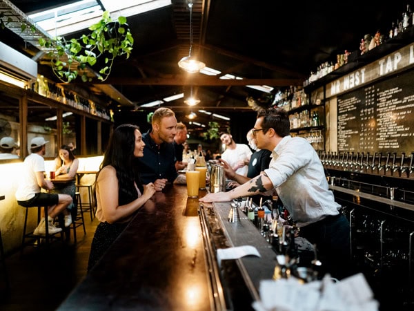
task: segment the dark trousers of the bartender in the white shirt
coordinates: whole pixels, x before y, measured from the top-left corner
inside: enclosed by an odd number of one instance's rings
[[[353,274],[351,267],[351,238],[348,219],[342,214],[328,216],[300,228],[300,236],[316,244],[321,276],[325,273],[344,279]]]

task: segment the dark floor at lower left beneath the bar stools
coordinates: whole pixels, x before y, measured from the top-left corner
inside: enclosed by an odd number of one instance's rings
[[[56,310],[66,296],[86,275],[90,243],[98,220],[90,221],[84,214],[86,235],[77,228],[77,243],[73,236],[66,244],[54,242],[50,249],[27,246],[6,256],[10,290],[5,289],[3,268],[0,267],[0,310]],[[71,234],[73,234],[71,230]]]

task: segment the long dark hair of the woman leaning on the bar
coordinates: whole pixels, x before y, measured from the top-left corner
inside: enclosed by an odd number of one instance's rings
[[[117,171],[119,185],[119,205],[124,205],[138,196],[134,181],[141,193],[144,188],[139,182],[139,173],[134,164],[135,131],[139,127],[134,124],[121,124],[110,135],[108,147],[103,156],[99,171],[108,165],[112,165]],[[99,175],[99,173],[98,173]]]

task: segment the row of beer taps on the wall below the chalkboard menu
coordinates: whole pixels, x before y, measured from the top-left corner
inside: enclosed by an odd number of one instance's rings
[[[375,173],[379,175],[389,175],[395,177],[413,178],[414,171],[414,151],[410,156],[401,153],[397,156],[396,152],[333,152],[319,151],[319,158],[324,167],[328,169],[342,169],[344,171],[354,171],[359,173]]]

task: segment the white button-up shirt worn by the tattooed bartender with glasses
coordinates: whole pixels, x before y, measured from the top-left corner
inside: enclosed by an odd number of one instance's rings
[[[339,213],[324,167],[307,140],[285,136],[271,157],[265,172],[298,227]]]

